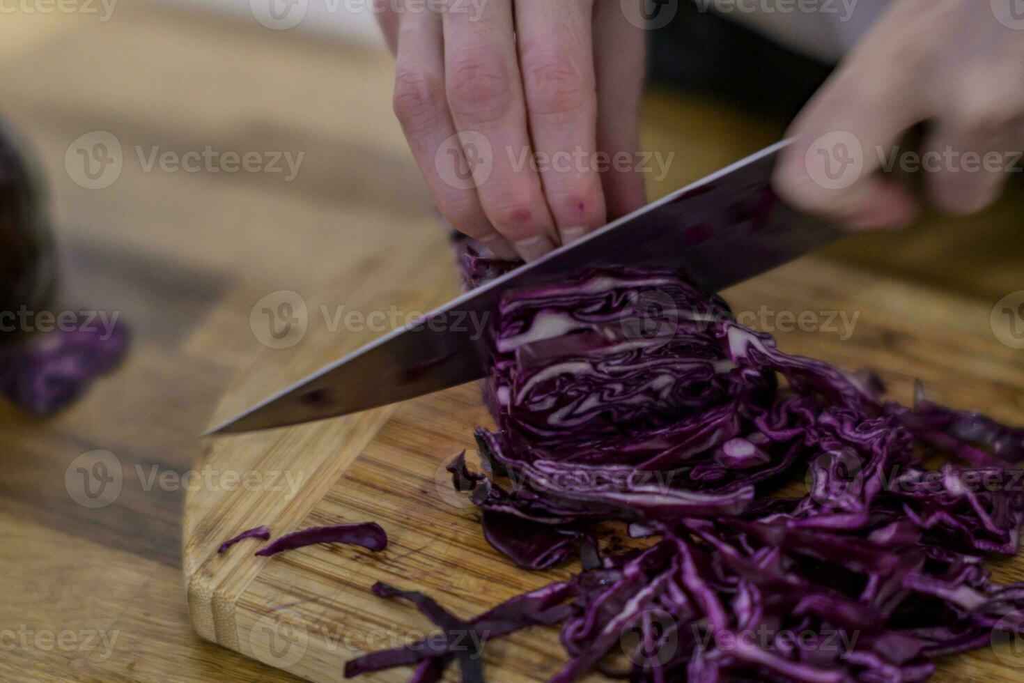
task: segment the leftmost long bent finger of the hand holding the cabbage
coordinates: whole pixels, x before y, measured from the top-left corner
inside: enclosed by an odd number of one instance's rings
[[[515,251],[483,212],[444,97],[444,48],[436,12],[406,12],[398,33],[394,111],[420,172],[452,225],[479,240],[495,256]]]

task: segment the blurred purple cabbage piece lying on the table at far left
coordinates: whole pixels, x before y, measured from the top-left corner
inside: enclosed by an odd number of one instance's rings
[[[77,325],[0,347],[0,392],[37,415],[50,415],[80,396],[124,356],[128,331]]]

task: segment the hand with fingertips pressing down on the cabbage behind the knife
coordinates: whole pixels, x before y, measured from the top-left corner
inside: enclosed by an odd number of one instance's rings
[[[642,176],[596,154],[638,150],[644,32],[617,0],[394,5],[378,0],[394,110],[457,229],[532,260],[645,203]]]

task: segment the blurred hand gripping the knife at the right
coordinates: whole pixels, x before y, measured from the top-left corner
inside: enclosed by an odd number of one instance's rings
[[[1005,13],[998,2],[896,0],[793,124],[778,194],[853,228],[897,227],[921,207],[878,173],[895,163],[926,171],[940,210],[991,204],[1024,150],[1024,20],[1002,1]],[[923,147],[907,155],[896,145],[923,121]]]

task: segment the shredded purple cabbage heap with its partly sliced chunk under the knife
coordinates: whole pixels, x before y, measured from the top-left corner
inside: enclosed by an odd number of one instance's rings
[[[462,264],[470,286],[508,269],[471,247]],[[912,409],[887,402],[874,375],[781,352],[671,272],[508,293],[490,344],[488,476],[461,457],[450,471],[520,566],[569,559],[582,540],[584,570],[541,589],[557,599],[534,613],[561,624],[552,681],[921,681],[996,627],[1024,633],[1024,584],[982,565],[1019,549],[1009,467],[1024,430],[921,391]],[[935,456],[950,462],[929,469]],[[805,472],[807,495],[774,495]],[[606,520],[646,547],[598,556],[593,522]],[[488,626],[484,640],[530,622]],[[368,654],[346,675],[408,665],[439,680],[450,640]]]

